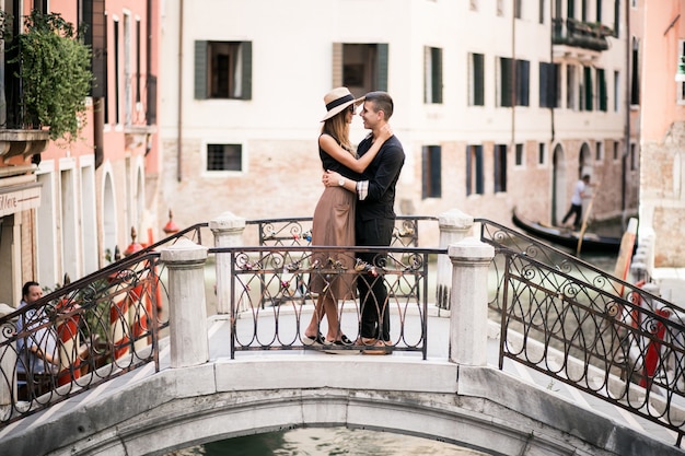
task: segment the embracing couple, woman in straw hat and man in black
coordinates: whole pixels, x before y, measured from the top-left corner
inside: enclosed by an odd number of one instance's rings
[[[387,122],[393,115],[393,100],[386,92],[370,92],[356,100],[348,89],[338,87],[324,96],[324,103],[327,114],[318,137],[318,155],[325,189],[314,210],[312,245],[390,246],[395,226],[395,186],[405,161],[402,143]],[[359,116],[370,133],[355,150],[349,126],[360,105]],[[357,257],[360,265],[373,267],[383,255],[358,253]],[[326,254],[315,254],[314,260],[317,259],[328,261]],[[339,255],[336,261],[349,271],[356,267],[352,255]],[[349,340],[340,329],[337,302],[353,297],[353,277],[345,273],[327,281],[320,274],[312,276],[310,291],[318,293],[318,299],[303,342],[363,344],[368,347],[364,353],[390,353],[386,347],[393,342],[383,277],[357,280],[361,307],[359,339]],[[320,332],[324,315],[328,323],[325,336]]]

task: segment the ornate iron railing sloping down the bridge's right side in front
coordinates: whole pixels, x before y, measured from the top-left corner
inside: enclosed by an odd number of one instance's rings
[[[685,434],[685,312],[487,220],[506,358]]]

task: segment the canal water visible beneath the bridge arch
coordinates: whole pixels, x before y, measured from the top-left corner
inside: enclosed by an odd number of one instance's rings
[[[347,428],[302,428],[227,439],[165,456],[485,456],[475,449],[408,435]]]

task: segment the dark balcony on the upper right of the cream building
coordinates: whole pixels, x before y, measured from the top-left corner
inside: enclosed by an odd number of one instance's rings
[[[582,22],[576,19],[555,17],[553,20],[552,44],[577,47],[592,51],[608,49],[607,36],[614,32],[596,22]]]

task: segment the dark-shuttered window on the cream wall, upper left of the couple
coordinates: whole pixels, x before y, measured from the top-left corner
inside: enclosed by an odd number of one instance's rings
[[[252,98],[252,42],[195,42],[195,98]]]

